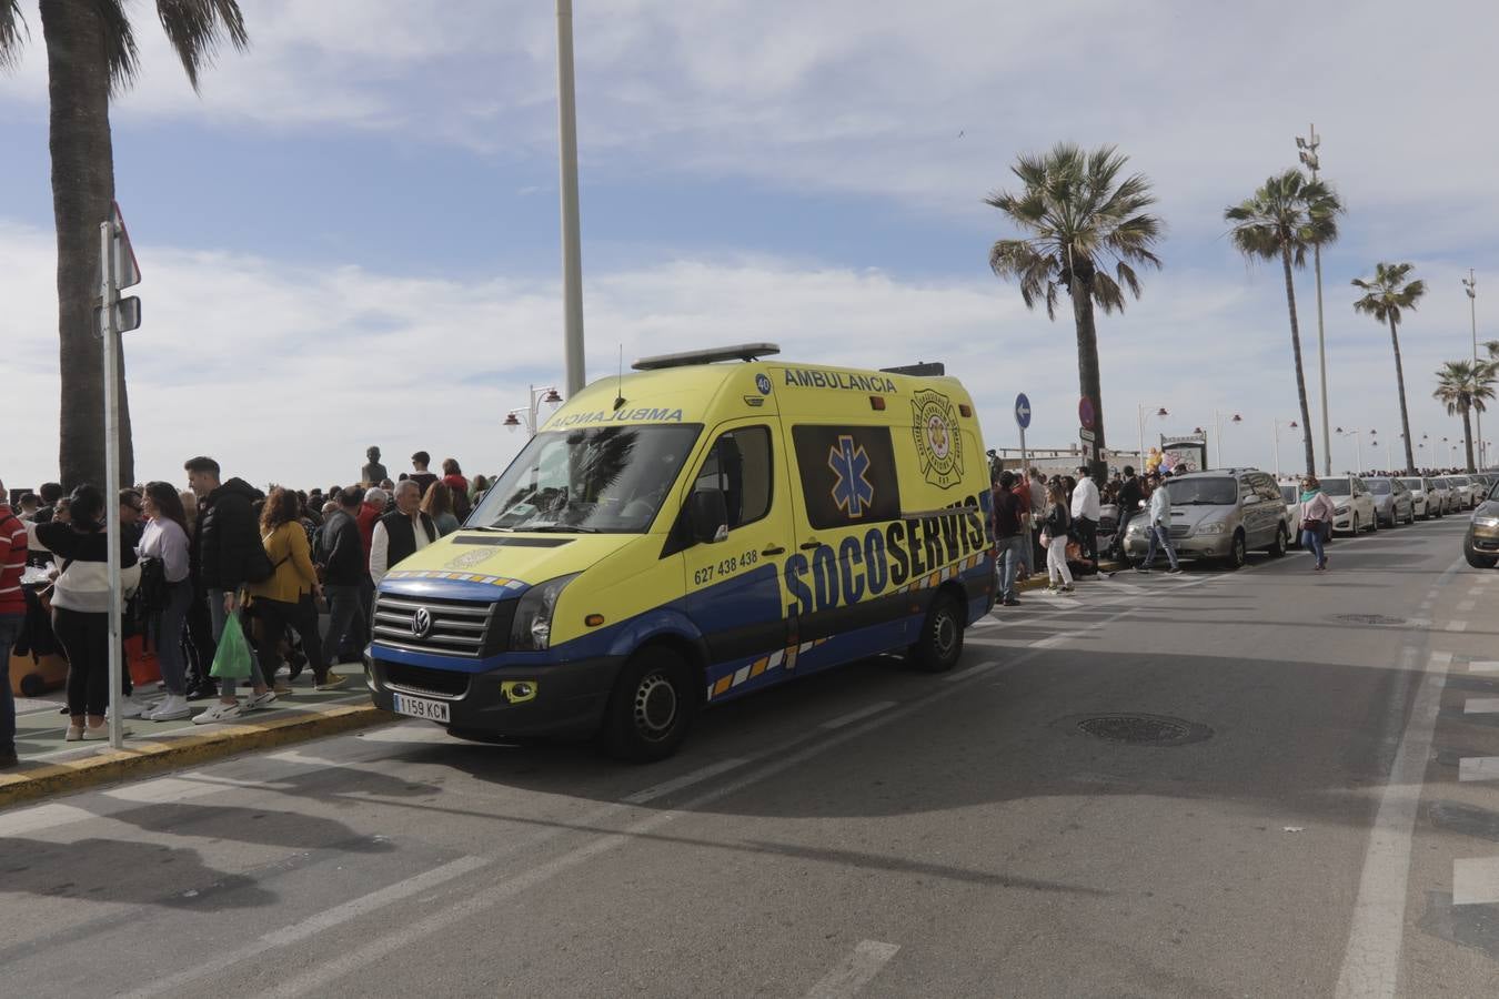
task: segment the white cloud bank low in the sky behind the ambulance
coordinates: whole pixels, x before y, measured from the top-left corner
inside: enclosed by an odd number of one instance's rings
[[[216,455],[258,482],[348,479],[378,443],[399,464],[424,448],[496,470],[519,439],[501,430],[528,382],[559,382],[561,309],[552,282],[412,280],[345,267],[306,270],[222,252],[136,247],[145,324],[127,335],[138,476],[180,478],[190,454]],[[9,410],[7,481],[51,478],[57,454],[52,240],[0,225],[6,364],[22,377]],[[1436,273],[1433,265],[1432,273]],[[1456,277],[1454,277],[1456,280]],[[1303,337],[1315,389],[1315,310],[1303,282]],[[1393,434],[1388,334],[1330,312],[1339,422]],[[770,340],[787,358],[853,367],[938,359],[976,395],[989,446],[1015,446],[1010,403],[1030,394],[1033,446],[1076,433],[1070,318],[1027,313],[997,282],[902,282],[880,271],[778,258],[658,261],[586,282],[588,361],[607,376],[622,346],[645,353]],[[1462,322],[1460,322],[1462,321]],[[1463,307],[1432,303],[1403,331],[1414,433],[1456,436],[1430,401],[1430,371],[1466,330]],[[1105,406],[1115,446],[1135,443],[1136,404],[1165,406],[1156,430],[1208,427],[1214,409],[1246,419],[1225,460],[1270,466],[1270,421],[1297,418],[1279,274],[1225,282],[1168,271],[1124,316],[1099,318]],[[1441,334],[1441,335],[1438,335]],[[1351,463],[1349,451],[1339,464]],[[1292,466],[1295,443],[1282,457]]]

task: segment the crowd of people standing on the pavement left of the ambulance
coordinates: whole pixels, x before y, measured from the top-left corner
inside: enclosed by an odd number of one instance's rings
[[[261,491],[225,479],[208,457],[183,466],[187,490],[153,481],[118,491],[129,598],[121,628],[141,634],[156,655],[162,681],[151,699],[136,696],[129,669],[121,669],[121,689],[109,689],[105,493],[45,482],[12,508],[0,482],[0,662],[9,668],[33,601],[67,659],[67,741],[108,738],[114,710],[153,722],[243,717],[292,693],[309,669],[315,690],[343,686],[348,678],[334,668],[360,662],[387,569],[457,530],[489,488],[486,476],[468,479],[454,458],[442,461],[441,475],[429,470],[424,451],[394,481],[379,448],[366,458],[357,485],[327,491]],[[231,619],[255,652],[243,698],[238,677],[211,669]],[[15,762],[15,702],[4,675],[0,767]]]

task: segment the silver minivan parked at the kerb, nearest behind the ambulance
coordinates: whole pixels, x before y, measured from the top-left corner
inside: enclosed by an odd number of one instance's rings
[[[1237,569],[1250,548],[1283,556],[1294,524],[1276,479],[1256,469],[1189,472],[1166,481],[1171,491],[1171,544],[1178,556],[1222,559]],[[1124,554],[1139,559],[1150,545],[1148,517],[1130,520]]]

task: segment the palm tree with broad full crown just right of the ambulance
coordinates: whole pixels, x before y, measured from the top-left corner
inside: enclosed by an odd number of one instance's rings
[[[1099,460],[1093,478],[1103,484],[1108,464],[1102,460],[1103,400],[1099,377],[1099,334],[1093,307],[1123,312],[1124,291],[1139,298],[1135,265],[1160,268],[1151,247],[1160,240],[1162,223],[1145,210],[1156,204],[1144,174],[1120,178],[1129,157],[1112,145],[1090,153],[1070,142],[1045,154],[1021,156],[1010,172],[1021,192],[995,192],[985,204],[998,208],[1022,232],[1000,240],[989,250],[989,268],[998,277],[1013,277],[1027,309],[1045,303],[1046,318],[1057,319],[1057,292],[1072,300],[1078,331],[1078,385],[1093,401],[1093,446]],[[1112,276],[1109,265],[1112,264]]]

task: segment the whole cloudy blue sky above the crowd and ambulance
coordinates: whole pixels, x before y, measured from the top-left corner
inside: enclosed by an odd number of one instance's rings
[[[148,3],[142,73],[112,106],[117,198],[144,280],[126,334],[136,476],[304,488],[426,449],[495,473],[531,385],[561,385],[553,4],[256,0],[250,48],[189,87]],[[0,75],[0,478],[57,473],[57,300],[46,52]],[[943,361],[986,446],[1078,434],[1070,310],[1028,312],[988,268],[1016,235],[983,199],[1022,153],[1117,145],[1159,198],[1160,271],[1099,316],[1112,446],[1139,413],[1213,430],[1225,464],[1298,467],[1279,267],[1247,264],[1223,208],[1322,135],[1348,204],[1324,255],[1333,464],[1399,463],[1388,330],[1351,279],[1406,261],[1429,294],[1400,331],[1412,436],[1445,464],[1462,425],[1433,371],[1499,337],[1499,7],[1382,0],[576,0],[589,380],[640,355],[773,341],[782,358]],[[1313,422],[1316,304],[1297,276]],[[1240,422],[1232,422],[1238,415]],[[1499,439],[1499,415],[1486,425]],[[1321,464],[1321,440],[1316,440]]]

